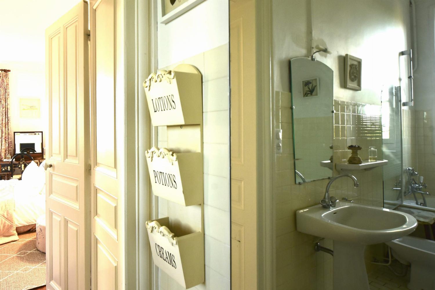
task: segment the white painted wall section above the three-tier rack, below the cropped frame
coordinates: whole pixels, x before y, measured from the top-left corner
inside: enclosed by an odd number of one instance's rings
[[[161,14],[161,1],[158,15]],[[167,67],[228,43],[228,0],[207,0],[170,23],[158,23],[158,66]]]

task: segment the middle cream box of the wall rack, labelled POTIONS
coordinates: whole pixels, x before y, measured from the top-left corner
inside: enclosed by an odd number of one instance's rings
[[[145,156],[154,195],[184,206],[203,203],[202,153],[172,153],[153,147]]]

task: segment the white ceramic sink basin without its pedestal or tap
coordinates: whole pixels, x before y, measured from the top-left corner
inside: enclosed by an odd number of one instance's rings
[[[332,240],[370,245],[412,233],[417,220],[408,213],[337,201],[326,209],[320,204],[296,212],[298,231]]]

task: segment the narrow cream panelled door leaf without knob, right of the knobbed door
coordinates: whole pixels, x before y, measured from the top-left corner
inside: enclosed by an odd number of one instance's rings
[[[90,1],[93,290],[125,287],[123,5]]]

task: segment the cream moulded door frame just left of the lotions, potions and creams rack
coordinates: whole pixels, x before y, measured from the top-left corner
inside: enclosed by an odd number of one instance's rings
[[[142,82],[149,75],[150,3],[122,0],[124,31],[124,289],[150,289],[151,252],[145,221],[151,218],[144,152],[151,120]],[[127,136],[127,137],[125,137]],[[146,149],[144,149],[146,148]],[[145,167],[144,167],[145,166]]]

